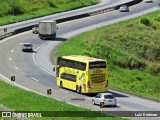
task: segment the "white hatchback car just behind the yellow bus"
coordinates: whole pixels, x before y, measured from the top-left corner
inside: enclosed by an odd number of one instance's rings
[[[111,93],[99,93],[92,99],[92,104],[100,105],[100,102],[104,102],[105,106],[117,106],[117,100]]]

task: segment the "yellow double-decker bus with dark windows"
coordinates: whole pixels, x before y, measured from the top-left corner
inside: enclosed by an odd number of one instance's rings
[[[81,55],[62,56],[53,68],[61,88],[83,93],[108,91],[107,61]]]

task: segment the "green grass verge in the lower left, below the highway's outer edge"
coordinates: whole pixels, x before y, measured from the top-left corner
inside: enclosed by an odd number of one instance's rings
[[[38,95],[36,93],[25,91],[18,87],[13,87],[0,80],[0,104],[12,109],[13,111],[91,111],[86,108],[77,107],[74,105],[67,104],[62,101],[57,101],[45,96]],[[1,111],[1,109],[0,109]],[[53,112],[54,113],[54,112]],[[85,112],[84,112],[85,113]],[[46,113],[49,114],[49,113]],[[121,118],[115,117],[98,117],[100,113],[89,113],[93,117],[54,117],[54,118],[42,118],[46,120],[118,120]],[[44,115],[44,114],[43,114]],[[74,113],[72,112],[72,115]],[[105,115],[106,116],[106,115]],[[30,118],[36,119],[36,118]],[[40,119],[40,118],[38,118]]]

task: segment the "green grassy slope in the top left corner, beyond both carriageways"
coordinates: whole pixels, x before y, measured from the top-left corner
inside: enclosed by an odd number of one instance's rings
[[[96,4],[98,0],[1,0],[0,25]]]

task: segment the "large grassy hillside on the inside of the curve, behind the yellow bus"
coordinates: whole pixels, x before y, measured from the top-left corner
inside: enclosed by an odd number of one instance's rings
[[[61,44],[56,57],[108,60],[109,87],[160,100],[160,13],[82,33]]]

